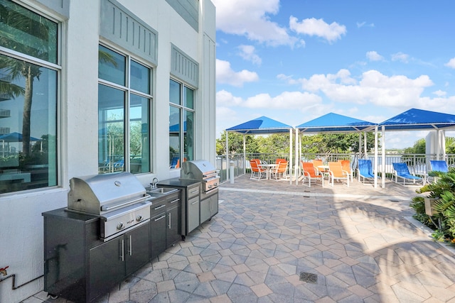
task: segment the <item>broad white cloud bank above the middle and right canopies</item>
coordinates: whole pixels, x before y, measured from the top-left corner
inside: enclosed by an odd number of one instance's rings
[[[332,101],[391,107],[414,107],[424,88],[433,85],[427,75],[416,79],[400,75],[388,77],[377,70],[364,72],[359,81],[350,77],[348,70],[340,70],[336,75],[313,75],[299,81],[303,89],[323,92]]]

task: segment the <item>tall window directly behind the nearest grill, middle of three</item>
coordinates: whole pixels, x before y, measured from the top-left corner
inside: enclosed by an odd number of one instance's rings
[[[100,45],[99,172],[150,172],[151,67]]]

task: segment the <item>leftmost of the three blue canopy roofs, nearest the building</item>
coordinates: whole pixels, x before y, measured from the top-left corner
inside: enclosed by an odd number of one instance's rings
[[[267,133],[289,133],[290,129],[292,129],[292,126],[262,116],[237,126],[226,128],[226,131],[235,131],[244,135],[260,135]]]

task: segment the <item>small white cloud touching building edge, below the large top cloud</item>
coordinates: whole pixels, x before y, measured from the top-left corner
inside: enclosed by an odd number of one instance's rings
[[[250,72],[249,70],[235,72],[230,67],[230,62],[216,60],[216,81],[218,83],[242,87],[245,82],[256,82],[258,80],[259,76],[256,72]]]

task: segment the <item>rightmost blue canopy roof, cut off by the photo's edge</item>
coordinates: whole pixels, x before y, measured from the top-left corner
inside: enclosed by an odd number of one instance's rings
[[[455,115],[424,111],[423,109],[410,109],[379,123],[379,126],[384,126],[385,131],[437,131],[439,129],[455,128]]]

